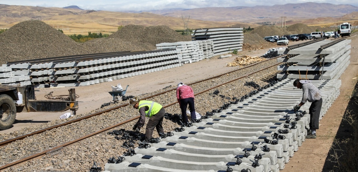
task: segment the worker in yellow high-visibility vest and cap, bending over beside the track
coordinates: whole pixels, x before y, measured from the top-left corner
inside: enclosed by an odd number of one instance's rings
[[[129,100],[129,105],[139,110],[140,118],[133,126],[133,131],[140,132],[140,128],[144,126],[145,117],[149,117],[149,121],[145,128],[145,141],[150,142],[153,135],[154,128],[156,128],[158,134],[164,133],[163,118],[165,110],[162,105],[154,101],[139,100],[137,97]]]

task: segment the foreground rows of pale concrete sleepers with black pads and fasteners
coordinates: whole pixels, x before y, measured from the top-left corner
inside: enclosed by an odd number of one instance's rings
[[[302,90],[293,89],[293,81],[279,82],[149,148],[135,148],[136,155],[125,156],[118,164],[106,163],[105,170],[278,172],[299,151],[309,128],[310,115],[304,111],[310,103],[299,112],[292,110],[302,96]],[[338,96],[340,80],[313,84],[323,93],[323,108],[329,107],[327,99]]]

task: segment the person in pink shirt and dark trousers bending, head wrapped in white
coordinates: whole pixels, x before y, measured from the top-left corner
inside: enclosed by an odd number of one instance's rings
[[[176,98],[178,99],[180,109],[182,110],[183,124],[188,125],[189,123],[187,117],[188,105],[189,105],[190,116],[192,117],[191,121],[196,122],[197,117],[195,115],[193,88],[188,85],[184,85],[183,82],[179,82],[178,87],[176,88]]]

